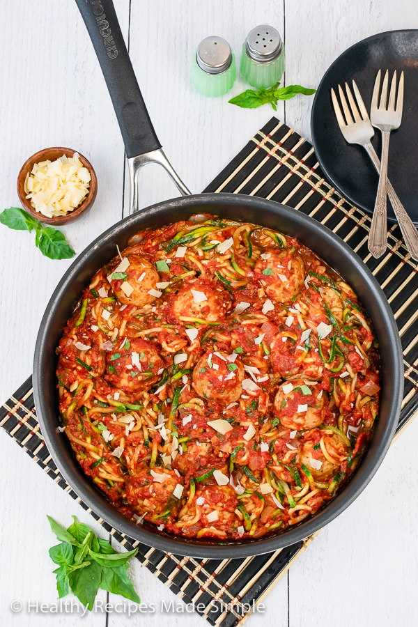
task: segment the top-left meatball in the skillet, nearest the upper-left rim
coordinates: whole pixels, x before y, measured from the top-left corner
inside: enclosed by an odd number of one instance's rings
[[[150,304],[155,300],[155,296],[148,294],[151,289],[155,290],[155,284],[157,284],[158,276],[157,270],[155,270],[152,263],[139,257],[138,255],[128,255],[127,260],[129,265],[126,272],[126,280],[133,288],[133,292],[127,296],[123,291],[124,279],[112,279],[110,281],[111,288],[123,304],[134,304],[137,307],[144,307],[146,304]],[[113,273],[111,274],[113,276]]]

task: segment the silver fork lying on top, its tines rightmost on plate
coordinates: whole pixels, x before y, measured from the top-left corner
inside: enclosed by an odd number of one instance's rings
[[[373,211],[373,219],[371,221],[371,229],[369,235],[369,251],[375,257],[380,257],[385,253],[387,246],[387,219],[386,219],[386,186],[387,186],[387,160],[389,155],[389,137],[390,132],[398,128],[402,120],[403,108],[403,72],[398,87],[398,98],[395,108],[396,93],[396,70],[392,77],[390,86],[389,105],[387,103],[387,84],[389,81],[389,72],[386,70],[383,79],[382,93],[380,95],[380,104],[378,105],[380,90],[380,70],[376,77],[375,86],[373,88],[373,96],[371,98],[370,121],[374,127],[382,132],[382,155],[380,157],[380,176],[378,194],[376,196],[375,208]]]

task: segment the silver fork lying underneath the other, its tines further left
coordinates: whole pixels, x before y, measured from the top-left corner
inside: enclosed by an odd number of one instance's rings
[[[359,111],[353,99],[353,95],[351,94],[350,88],[346,83],[346,92],[348,101],[350,102],[351,111],[353,111],[353,118],[350,113],[350,109],[348,107],[346,97],[339,86],[339,95],[341,98],[341,104],[343,106],[343,111],[346,116],[346,120],[343,118],[343,114],[341,113],[341,109],[339,106],[339,102],[336,98],[334,89],[331,90],[332,96],[332,104],[334,104],[334,111],[336,115],[336,120],[339,123],[340,130],[343,134],[344,139],[348,142],[348,144],[359,144],[359,146],[363,146],[366,150],[367,154],[371,158],[374,167],[376,170],[380,172],[380,160],[378,155],[376,155],[376,150],[373,148],[371,144],[371,137],[374,135],[373,126],[369,120],[369,115],[367,114],[366,107],[364,106],[364,102],[362,96],[359,93],[357,85],[353,81],[353,91],[355,93],[355,98],[357,100],[357,104],[359,110],[362,114],[362,117],[359,115]],[[346,122],[347,121],[347,122]],[[408,213],[403,208],[401,201],[398,199],[394,188],[389,180],[387,180],[387,195],[392,203],[392,207],[394,208],[394,212],[396,215],[396,219],[398,220],[399,226],[401,227],[403,239],[405,241],[405,246],[408,249],[408,252],[415,261],[418,261],[418,233],[417,229],[410,219]],[[385,229],[387,228],[385,224]]]

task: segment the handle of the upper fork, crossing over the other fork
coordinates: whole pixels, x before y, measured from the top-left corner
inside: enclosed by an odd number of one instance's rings
[[[387,246],[386,183],[389,137],[390,131],[382,130],[382,161],[380,163],[379,187],[369,233],[369,251],[376,258],[385,254]]]

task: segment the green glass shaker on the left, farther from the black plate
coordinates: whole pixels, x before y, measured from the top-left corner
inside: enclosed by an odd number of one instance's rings
[[[215,98],[228,93],[236,79],[235,56],[222,37],[200,42],[192,64],[192,82],[200,93]]]

